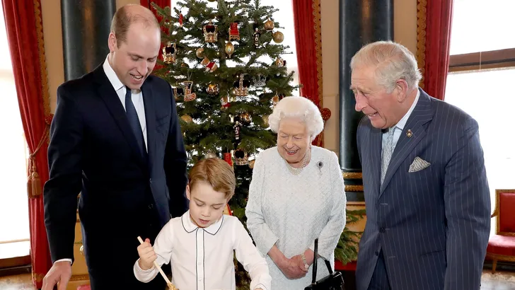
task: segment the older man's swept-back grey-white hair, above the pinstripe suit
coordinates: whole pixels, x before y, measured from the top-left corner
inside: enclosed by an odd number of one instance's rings
[[[361,47],[350,61],[351,71],[358,66],[376,67],[376,82],[388,92],[393,91],[399,79],[405,80],[411,89],[417,88],[422,79],[415,56],[403,45],[391,41]]]

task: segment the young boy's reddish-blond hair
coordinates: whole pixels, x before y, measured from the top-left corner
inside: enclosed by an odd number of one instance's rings
[[[220,158],[206,158],[195,163],[190,170],[190,190],[198,182],[207,182],[217,192],[224,192],[229,200],[236,189],[234,171],[226,161]]]

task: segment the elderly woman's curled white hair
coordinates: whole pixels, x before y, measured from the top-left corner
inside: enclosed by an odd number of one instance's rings
[[[268,117],[268,124],[273,132],[279,132],[279,123],[285,118],[300,119],[306,124],[311,141],[324,128],[324,121],[318,107],[308,98],[284,97],[275,105],[274,112]]]

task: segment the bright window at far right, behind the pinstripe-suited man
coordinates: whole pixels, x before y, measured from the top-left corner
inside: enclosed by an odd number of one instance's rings
[[[513,0],[454,0],[445,100],[478,121],[492,211],[495,190],[515,188],[514,9]]]

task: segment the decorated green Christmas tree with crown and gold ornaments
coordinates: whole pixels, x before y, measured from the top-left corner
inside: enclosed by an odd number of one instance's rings
[[[276,144],[268,115],[296,88],[281,58],[290,52],[272,18],[277,9],[259,0],[179,0],[173,11],[153,6],[163,31],[163,62],[154,74],[173,86],[188,167],[209,157],[233,165],[237,186],[229,205],[245,224],[254,158]],[[238,289],[248,289],[236,266]]]

